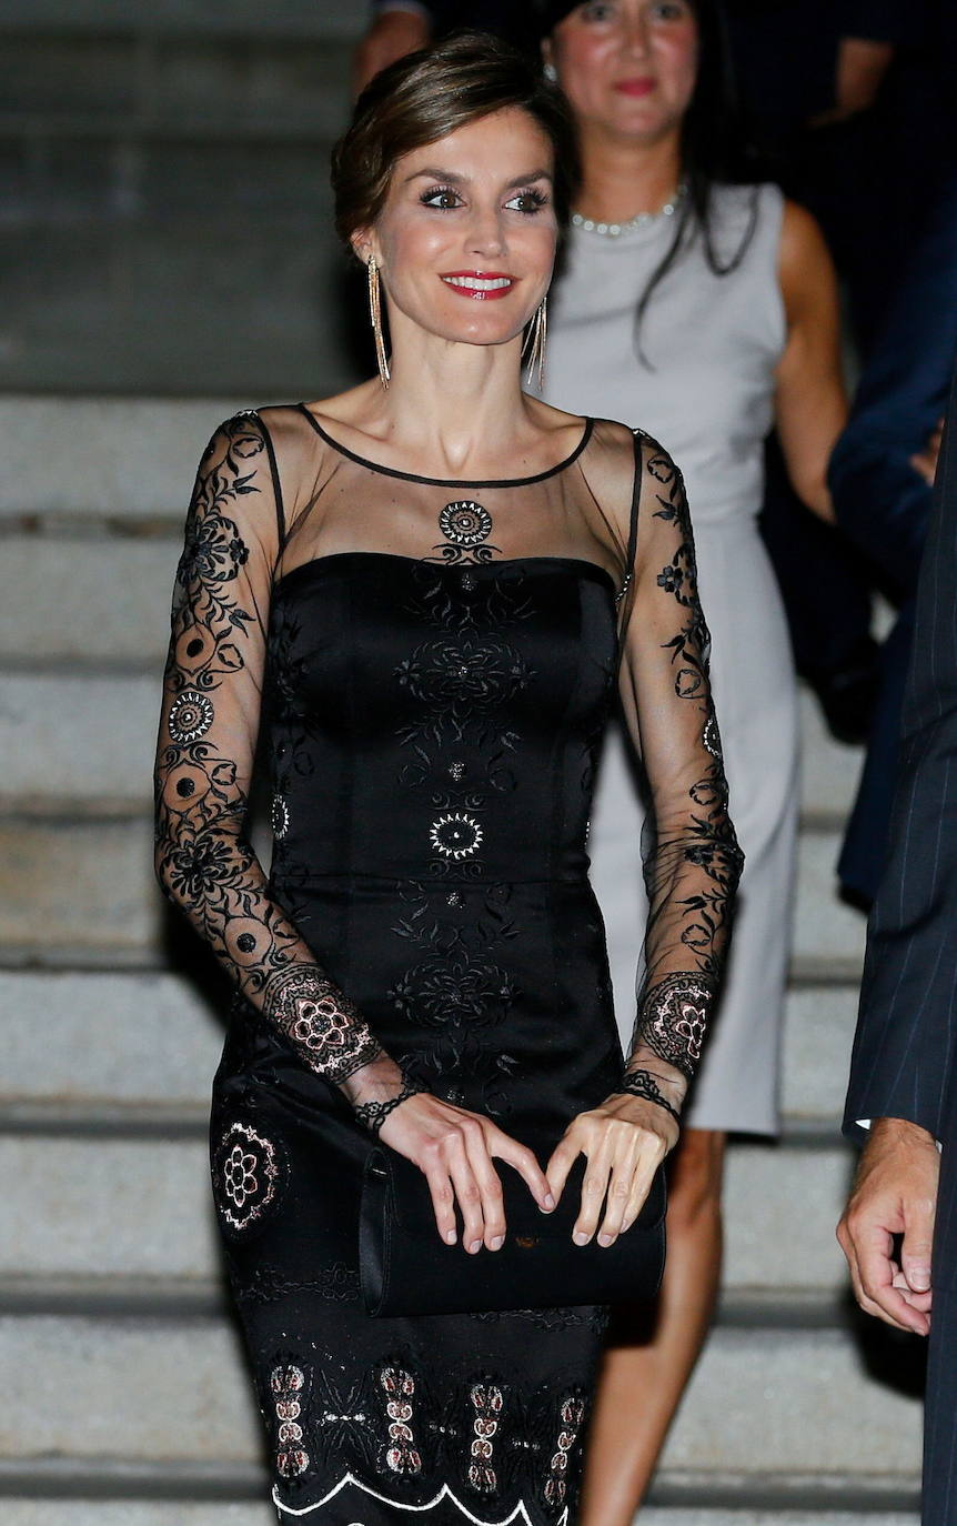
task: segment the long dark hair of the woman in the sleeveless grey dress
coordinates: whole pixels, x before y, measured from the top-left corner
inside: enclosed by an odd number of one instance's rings
[[[717,246],[714,188],[746,182],[748,157],[742,130],[731,47],[720,0],[688,0],[698,21],[698,78],[681,127],[681,177],[685,186],[675,214],[675,230],[652,270],[635,310],[635,342],[640,360],[650,366],[641,348],[641,324],[649,304],[684,250],[701,238],[708,269],[716,276],[737,270],[757,226],[757,188],[751,195],[748,223],[737,247],[722,253]],[[551,31],[575,5],[545,5],[543,24]]]

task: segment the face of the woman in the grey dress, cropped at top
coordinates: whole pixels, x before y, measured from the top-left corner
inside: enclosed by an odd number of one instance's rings
[[[691,0],[589,0],[554,29],[546,53],[586,130],[653,143],[681,127],[698,41]]]

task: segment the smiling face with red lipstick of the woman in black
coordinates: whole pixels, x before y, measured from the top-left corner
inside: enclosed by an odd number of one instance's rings
[[[551,174],[551,143],[517,107],[397,162],[374,227],[354,240],[382,269],[394,340],[403,319],[470,345],[522,333],[556,258]]]

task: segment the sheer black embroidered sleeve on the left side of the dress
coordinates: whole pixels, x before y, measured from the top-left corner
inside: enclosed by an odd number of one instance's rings
[[[264,1019],[377,1128],[411,1094],[270,899],[246,836],[282,507],[256,414],[200,462],[172,603],[156,765],[156,871]]]

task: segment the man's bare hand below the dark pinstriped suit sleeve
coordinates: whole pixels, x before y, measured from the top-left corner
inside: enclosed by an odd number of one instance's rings
[[[876,1119],[838,1241],[858,1303],[896,1329],[931,1328],[931,1244],[940,1154],[933,1134],[904,1119]],[[901,1262],[894,1235],[904,1236]]]

